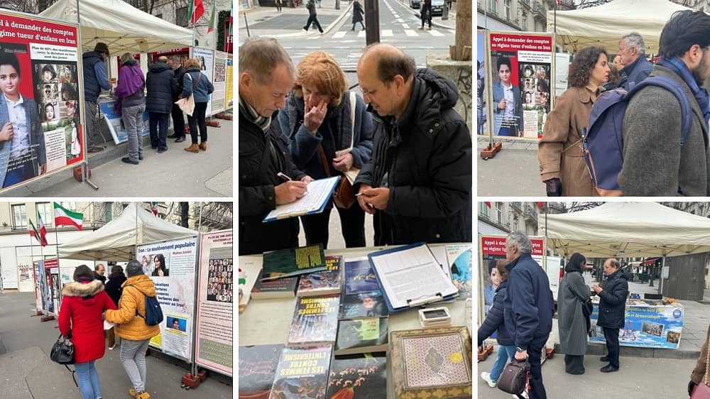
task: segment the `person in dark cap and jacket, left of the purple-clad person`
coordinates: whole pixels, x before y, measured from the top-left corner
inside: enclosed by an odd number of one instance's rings
[[[99,119],[99,94],[101,90],[111,89],[106,77],[104,61],[109,59],[109,46],[106,43],[96,43],[94,51],[82,55],[84,65],[84,107],[87,112],[87,148],[89,153],[103,151],[103,147],[94,145],[94,135],[101,129]]]

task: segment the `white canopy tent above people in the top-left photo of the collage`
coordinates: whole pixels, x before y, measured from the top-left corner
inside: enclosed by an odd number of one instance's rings
[[[92,50],[97,42],[107,43],[111,55],[152,53],[193,45],[190,29],[121,0],[58,0],[40,16],[76,23],[77,4],[84,50]]]

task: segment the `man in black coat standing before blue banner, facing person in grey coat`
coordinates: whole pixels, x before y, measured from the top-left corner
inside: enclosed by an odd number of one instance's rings
[[[619,263],[614,258],[608,258],[604,262],[604,275],[606,281],[603,285],[594,285],[592,289],[599,295],[599,319],[596,325],[604,329],[608,351],[608,355],[601,358],[601,361],[608,361],[609,364],[603,366],[601,372],[610,373],[619,369],[619,329],[624,324],[628,276],[619,268]]]

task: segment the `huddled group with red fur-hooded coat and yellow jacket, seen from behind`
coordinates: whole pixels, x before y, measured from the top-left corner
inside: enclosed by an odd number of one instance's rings
[[[146,324],[146,296],[155,297],[155,285],[143,273],[140,262],[111,268],[105,283],[105,268],[97,265],[78,266],[73,281],[62,288],[62,305],[59,312],[59,330],[62,337],[74,346],[74,360],[79,389],[84,399],[102,398],[97,360],[104,357],[104,319],[114,324],[107,331],[109,349],[121,338],[119,358],[131,380],[129,395],[148,399],[146,392],[146,351],[152,337],[160,334],[160,326]]]

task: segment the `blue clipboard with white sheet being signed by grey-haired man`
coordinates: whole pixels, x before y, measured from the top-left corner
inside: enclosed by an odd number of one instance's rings
[[[277,205],[275,209],[264,217],[263,222],[273,222],[275,220],[323,212],[339,180],[340,176],[313,180],[308,183],[306,195],[290,204]]]

